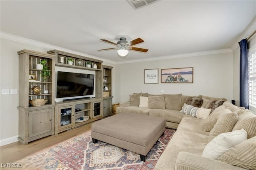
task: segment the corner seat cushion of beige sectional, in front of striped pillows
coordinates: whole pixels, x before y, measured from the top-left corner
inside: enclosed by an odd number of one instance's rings
[[[190,115],[185,115],[180,121],[180,124],[177,130],[195,132],[195,133],[200,133],[200,134],[209,136],[210,132],[205,132],[204,130],[201,129],[200,124],[202,123],[202,121],[203,121],[202,119],[198,119]]]

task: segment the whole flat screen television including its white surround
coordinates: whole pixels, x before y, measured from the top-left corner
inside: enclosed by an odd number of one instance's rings
[[[58,70],[56,77],[55,101],[95,97],[94,71],[65,68]]]

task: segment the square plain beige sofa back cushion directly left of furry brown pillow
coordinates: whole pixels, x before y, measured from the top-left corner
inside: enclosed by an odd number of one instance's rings
[[[180,111],[182,94],[166,95],[164,97],[165,108]]]

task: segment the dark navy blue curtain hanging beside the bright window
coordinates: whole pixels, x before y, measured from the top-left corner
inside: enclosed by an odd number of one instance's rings
[[[240,107],[245,107],[249,109],[249,99],[248,99],[248,49],[247,40],[241,40],[240,45]]]

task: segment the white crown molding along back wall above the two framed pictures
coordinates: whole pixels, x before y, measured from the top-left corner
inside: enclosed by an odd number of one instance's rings
[[[232,49],[225,48],[225,49],[217,49],[217,50],[210,50],[210,51],[200,51],[194,53],[184,53],[184,54],[177,54],[177,55],[166,55],[162,57],[152,57],[146,59],[134,59],[129,61],[120,61],[117,64],[125,64],[125,63],[138,63],[138,62],[145,62],[145,61],[158,61],[164,59],[173,59],[173,58],[183,58],[183,57],[196,57],[202,55],[211,55],[211,54],[220,54],[220,53],[232,53]]]

